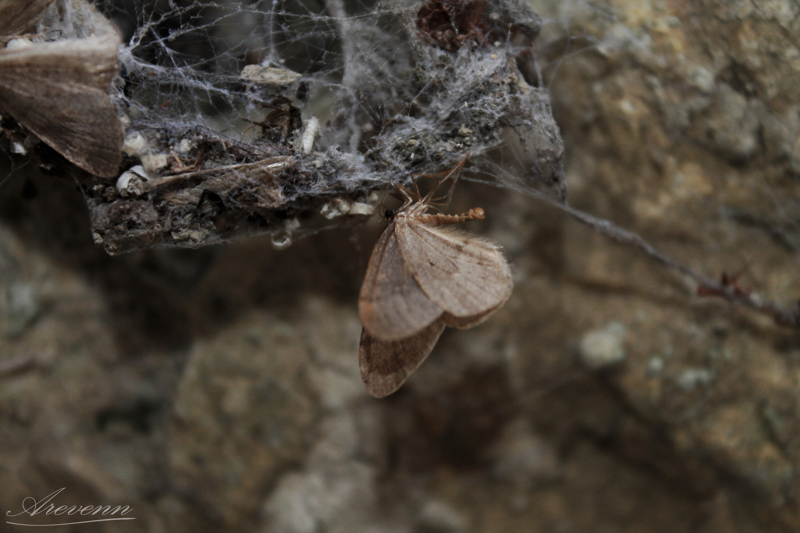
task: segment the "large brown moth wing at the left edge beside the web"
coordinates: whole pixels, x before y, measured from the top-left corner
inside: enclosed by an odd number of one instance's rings
[[[108,94],[118,38],[0,50],[0,107],[82,169],[116,176],[122,123]]]

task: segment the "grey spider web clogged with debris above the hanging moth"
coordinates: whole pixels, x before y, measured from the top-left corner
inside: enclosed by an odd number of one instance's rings
[[[78,178],[110,253],[265,232],[281,247],[363,221],[390,184],[466,153],[471,179],[566,197],[522,0],[100,8],[126,38],[124,168],[149,184]]]

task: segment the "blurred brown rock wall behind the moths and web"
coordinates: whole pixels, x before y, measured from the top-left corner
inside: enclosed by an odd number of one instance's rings
[[[800,5],[533,6],[570,204],[794,305]],[[128,35],[145,7],[104,6]],[[800,530],[798,332],[531,197],[459,185],[514,294],[374,400],[377,217],[110,257],[74,182],[10,155],[0,175],[4,511],[66,487],[136,519],[62,531]]]

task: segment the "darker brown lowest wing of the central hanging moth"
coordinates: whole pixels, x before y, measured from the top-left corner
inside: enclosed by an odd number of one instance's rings
[[[433,351],[444,328],[444,320],[435,320],[414,336],[389,342],[376,339],[363,328],[358,367],[366,392],[383,398],[398,390]]]

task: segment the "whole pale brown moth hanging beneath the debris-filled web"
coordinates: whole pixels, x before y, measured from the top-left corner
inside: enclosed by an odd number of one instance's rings
[[[460,173],[464,161],[466,157],[439,185]],[[446,326],[480,324],[508,300],[514,287],[497,245],[450,227],[484,218],[483,209],[460,215],[428,213],[433,191],[424,198],[417,193],[415,201],[408,190],[398,189],[403,205],[387,213],[389,224],[378,237],[358,296],[364,326],[358,366],[366,391],[377,398],[400,388]]]

